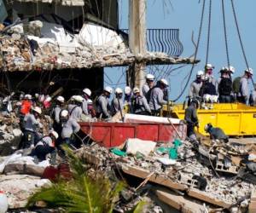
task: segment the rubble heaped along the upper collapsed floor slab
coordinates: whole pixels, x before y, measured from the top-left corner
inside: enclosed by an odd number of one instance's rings
[[[128,66],[135,61],[175,64],[194,60],[172,58],[158,52],[133,55],[117,32],[102,26],[96,26],[93,32],[87,26],[91,25],[84,24],[79,34],[71,34],[63,26],[40,20],[13,26],[8,33],[0,35],[0,67],[13,72]],[[103,30],[106,31],[103,41],[93,43],[91,39],[102,37],[99,32]]]

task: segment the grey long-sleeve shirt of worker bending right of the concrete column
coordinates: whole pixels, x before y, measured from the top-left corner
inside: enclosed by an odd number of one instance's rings
[[[159,110],[167,101],[164,100],[163,90],[159,87],[152,89],[149,99],[149,107],[151,110]]]

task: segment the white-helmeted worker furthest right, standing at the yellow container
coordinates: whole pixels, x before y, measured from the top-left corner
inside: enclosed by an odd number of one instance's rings
[[[245,70],[244,75],[240,79],[240,89],[237,95],[237,101],[246,104],[249,99],[249,79],[253,77],[253,69]]]

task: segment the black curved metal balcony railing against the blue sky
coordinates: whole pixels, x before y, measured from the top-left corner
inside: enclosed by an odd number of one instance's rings
[[[129,34],[128,29],[120,31]],[[147,46],[150,52],[163,52],[170,56],[179,56],[183,53],[178,29],[147,29]]]

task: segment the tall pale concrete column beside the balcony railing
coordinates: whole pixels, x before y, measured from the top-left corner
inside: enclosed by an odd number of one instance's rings
[[[146,10],[146,0],[129,0],[129,46],[134,55],[143,55],[147,51]],[[129,69],[133,72],[131,87],[141,88],[145,83],[146,64],[136,63]]]

